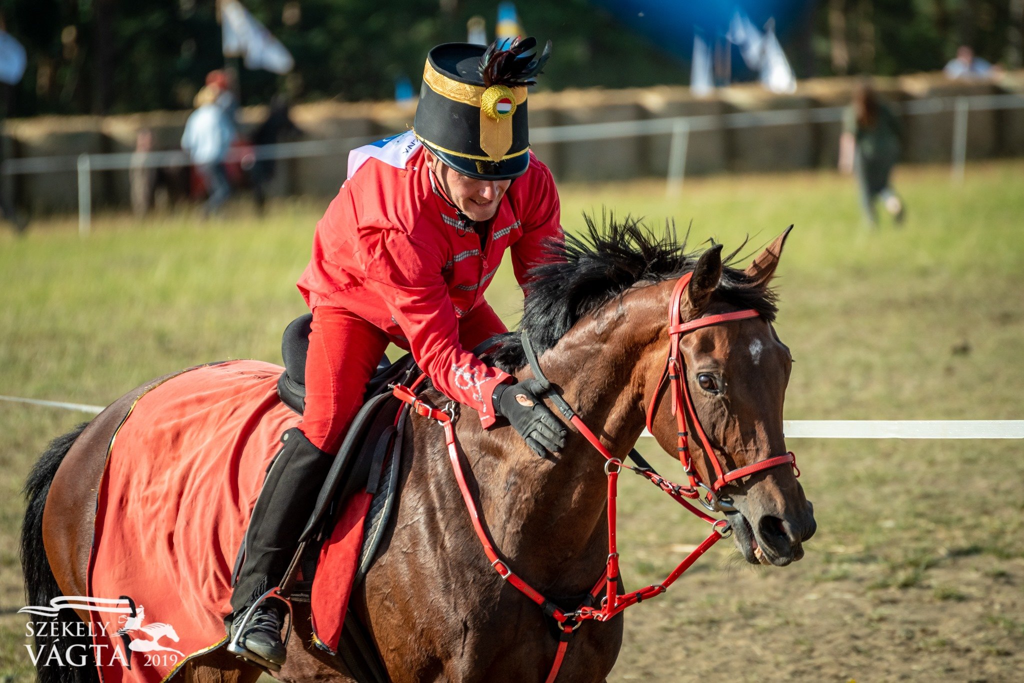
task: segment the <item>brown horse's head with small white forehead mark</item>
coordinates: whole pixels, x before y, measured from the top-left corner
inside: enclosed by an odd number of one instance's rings
[[[678,411],[686,416],[685,431],[699,480],[717,489],[743,557],[754,564],[778,566],[803,557],[802,544],[816,528],[813,506],[804,496],[795,468],[784,463],[728,483],[720,480],[719,471],[728,478],[730,471],[786,453],[782,402],[793,357],[772,327],[773,295],[768,284],[788,232],[779,236],[746,270],[727,269],[725,276],[721,246],[709,249],[697,260],[679,303],[682,323],[744,308],[761,310],[759,316],[701,327],[681,337],[686,387],[681,387]],[[647,396],[654,393],[664,365],[665,347],[656,346],[659,357],[650,365]],[[685,410],[687,399],[682,392],[687,388],[699,424]],[[651,431],[664,449],[676,453],[673,401],[665,391],[659,395]],[[712,453],[700,438],[701,429]]]

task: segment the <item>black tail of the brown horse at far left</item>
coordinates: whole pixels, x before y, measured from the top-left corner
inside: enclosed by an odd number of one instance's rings
[[[22,571],[25,573],[25,592],[30,605],[48,606],[50,599],[60,595],[60,587],[57,586],[57,580],[53,577],[50,562],[46,558],[46,550],[43,548],[43,508],[46,506],[46,496],[50,492],[50,483],[57,473],[57,468],[60,467],[60,463],[63,462],[72,444],[88,424],[88,422],[83,422],[67,434],[50,441],[49,446],[36,461],[25,482],[28,508],[25,511],[25,521],[22,522]],[[53,620],[61,624],[82,624],[82,620],[73,609],[59,610]],[[65,630],[61,626],[60,630],[61,633],[81,633],[80,628],[82,627],[73,626]],[[37,635],[35,641],[36,652],[43,653],[38,658],[36,666],[38,683],[94,683],[98,681],[91,654],[92,641],[88,636],[69,637],[62,635],[59,641],[54,641],[52,638]],[[83,645],[76,650],[87,653],[85,666],[69,666],[68,661],[65,661],[62,667],[44,666],[46,655],[57,643],[62,650],[61,658],[73,645]]]

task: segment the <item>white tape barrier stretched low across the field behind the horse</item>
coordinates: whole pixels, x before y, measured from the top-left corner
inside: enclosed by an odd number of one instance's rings
[[[2,395],[0,400],[93,415],[103,411],[62,400]],[[782,431],[786,438],[1024,438],[1024,420],[784,420]]]

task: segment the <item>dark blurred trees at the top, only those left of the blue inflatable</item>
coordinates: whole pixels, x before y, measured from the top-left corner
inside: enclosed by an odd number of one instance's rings
[[[243,70],[244,103],[278,91],[302,99],[387,99],[395,79],[419,81],[427,50],[466,39],[492,0],[244,0],[292,52],[296,76]],[[586,0],[523,1],[525,30],[555,43],[546,87],[682,83],[686,69]],[[206,74],[224,66],[215,0],[0,0],[29,52],[14,116],[190,106]],[[493,35],[490,36],[493,38]]]

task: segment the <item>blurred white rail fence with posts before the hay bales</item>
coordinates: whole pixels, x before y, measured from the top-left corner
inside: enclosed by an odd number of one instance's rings
[[[968,117],[970,116],[970,112],[1024,109],[1024,95],[1007,93],[998,95],[930,97],[928,99],[907,101],[898,106],[907,116],[933,115],[950,111],[953,113],[952,140],[950,143],[951,175],[953,182],[962,182],[967,164]],[[802,110],[737,112],[733,114],[681,116],[570,126],[546,126],[531,128],[529,137],[531,142],[541,143],[583,142],[646,135],[671,135],[669,166],[666,175],[666,193],[670,197],[674,197],[682,190],[690,132],[758,128],[762,126],[836,123],[842,120],[843,109],[842,106],[820,106]],[[232,150],[228,154],[227,161],[242,162],[243,165],[248,166],[257,161],[270,159],[342,156],[348,154],[350,150],[375,139],[377,139],[377,136],[360,136],[256,145],[243,151]],[[69,155],[8,159],[3,162],[0,171],[7,175],[77,171],[79,232],[85,236],[89,233],[92,224],[93,171],[126,171],[133,167],[166,168],[187,166],[189,163],[188,157],[176,150],[147,152],[144,155],[122,152],[82,154],[77,157]]]

